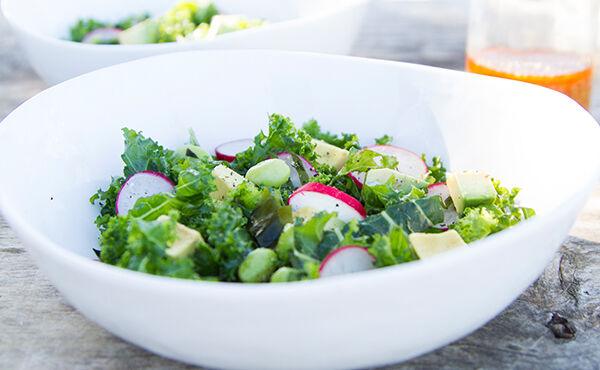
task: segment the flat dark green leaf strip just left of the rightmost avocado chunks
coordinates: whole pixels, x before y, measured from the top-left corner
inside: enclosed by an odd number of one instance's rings
[[[389,234],[401,226],[406,232],[423,232],[444,220],[442,198],[420,198],[389,207],[359,222],[359,235]]]

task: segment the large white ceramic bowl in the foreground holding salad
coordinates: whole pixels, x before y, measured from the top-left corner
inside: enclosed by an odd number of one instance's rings
[[[267,112],[315,117],[365,143],[391,134],[450,169],[487,170],[522,187],[538,216],[430,260],[300,283],[186,281],[92,261],[88,198],[122,170],[121,127],[168,147],[193,127],[214,148],[265,128]],[[189,52],[92,72],[17,108],[0,124],[0,204],[68,301],[125,340],[217,368],[357,368],[443,346],[510,304],[596,184],[599,142],[577,103],[524,83],[349,57]]]

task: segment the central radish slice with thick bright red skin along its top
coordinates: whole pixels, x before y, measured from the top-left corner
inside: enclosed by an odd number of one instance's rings
[[[292,206],[292,212],[304,207],[312,207],[319,212],[337,212],[338,218],[344,222],[360,221],[367,217],[358,200],[341,190],[316,182],[299,187],[290,195],[288,204]]]

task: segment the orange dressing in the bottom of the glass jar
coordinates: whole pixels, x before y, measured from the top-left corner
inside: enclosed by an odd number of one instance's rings
[[[466,70],[548,87],[590,107],[593,66],[576,54],[490,48],[467,55]]]

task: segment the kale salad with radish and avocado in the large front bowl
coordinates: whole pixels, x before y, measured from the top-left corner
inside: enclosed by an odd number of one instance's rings
[[[532,217],[480,171],[311,120],[269,116],[268,132],[219,145],[193,131],[170,150],[123,129],[123,174],[99,207],[100,261],[185,279],[290,282],[392,266],[468,248]]]

